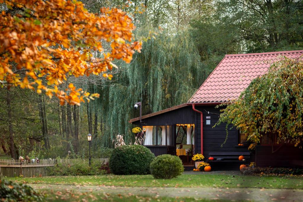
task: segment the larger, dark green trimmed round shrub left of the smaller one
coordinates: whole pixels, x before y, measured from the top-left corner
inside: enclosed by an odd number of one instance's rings
[[[123,145],[112,151],[109,169],[117,175],[149,174],[149,165],[155,155],[142,145]]]

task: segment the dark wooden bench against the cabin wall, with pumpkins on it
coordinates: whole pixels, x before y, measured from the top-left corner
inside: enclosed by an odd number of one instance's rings
[[[249,151],[214,151],[209,152],[208,154],[211,157],[214,157],[213,161],[208,161],[208,158],[206,159],[206,162],[239,162],[239,156],[243,155],[245,158],[245,161],[247,161],[250,158],[250,152]],[[222,159],[222,160],[217,160]],[[244,161],[244,162],[245,162]]]

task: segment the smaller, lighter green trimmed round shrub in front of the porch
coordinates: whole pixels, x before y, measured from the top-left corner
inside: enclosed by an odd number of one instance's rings
[[[163,154],[157,156],[150,165],[151,174],[158,179],[178,177],[184,171],[182,161],[177,156]]]

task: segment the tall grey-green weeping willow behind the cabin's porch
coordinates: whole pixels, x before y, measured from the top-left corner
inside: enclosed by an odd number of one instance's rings
[[[111,139],[119,133],[125,135],[125,141],[132,140],[128,121],[139,116],[133,108],[135,102],[142,101],[142,114],[185,103],[211,71],[201,63],[188,32],[170,35],[158,31],[156,38],[143,43],[142,52],[135,54],[130,64],[116,65],[121,68],[113,81],[91,89],[103,95],[90,103],[102,114],[104,123],[98,145],[112,146]]]

